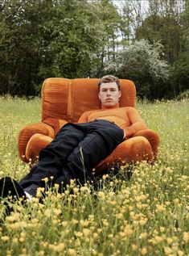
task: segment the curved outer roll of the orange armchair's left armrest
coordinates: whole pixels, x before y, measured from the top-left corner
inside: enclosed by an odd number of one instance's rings
[[[27,157],[25,156],[27,143],[35,133],[41,133],[43,135],[50,136],[51,138],[55,137],[54,129],[48,124],[29,124],[22,128],[18,135],[18,156],[23,160],[23,162],[28,162]]]

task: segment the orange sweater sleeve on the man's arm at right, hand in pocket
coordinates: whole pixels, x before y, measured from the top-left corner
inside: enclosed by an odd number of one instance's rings
[[[131,125],[124,129],[125,139],[133,136],[135,132],[147,128],[145,121],[142,120],[141,115],[139,115],[138,111],[134,107],[128,108],[127,115],[129,117]]]

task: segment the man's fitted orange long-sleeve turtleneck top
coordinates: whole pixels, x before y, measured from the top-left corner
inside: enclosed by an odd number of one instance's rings
[[[88,123],[93,120],[109,120],[125,131],[125,138],[133,136],[135,132],[146,129],[146,123],[142,120],[134,107],[113,107],[94,111],[85,111],[78,123]]]

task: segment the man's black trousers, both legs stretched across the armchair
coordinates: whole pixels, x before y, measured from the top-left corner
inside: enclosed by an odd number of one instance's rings
[[[24,191],[35,196],[45,187],[43,178],[55,183],[85,182],[87,174],[123,141],[124,132],[107,120],[84,124],[65,124],[50,145],[39,153],[39,163],[20,181]],[[51,178],[53,177],[53,178]]]

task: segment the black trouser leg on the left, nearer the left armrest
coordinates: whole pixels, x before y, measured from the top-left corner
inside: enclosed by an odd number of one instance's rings
[[[86,126],[82,124],[66,124],[57,133],[50,145],[39,153],[39,163],[20,181],[20,185],[31,195],[36,194],[38,187],[44,187],[43,178],[58,178],[62,175],[62,166],[67,161],[72,150],[76,148],[85,136]],[[72,171],[64,173],[64,183],[74,178]]]

